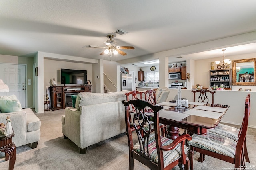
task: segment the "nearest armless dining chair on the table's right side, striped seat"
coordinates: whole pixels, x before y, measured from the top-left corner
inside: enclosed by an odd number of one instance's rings
[[[187,141],[190,147],[189,159],[190,168],[193,170],[193,159],[194,151],[202,154],[198,161],[203,162],[204,156],[212,156],[214,158],[224,160],[232,163],[236,168],[245,165],[243,156],[243,146],[246,137],[248,127],[248,117],[250,115],[250,96],[246,96],[245,99],[245,110],[242,125],[238,133],[238,141],[234,141],[223,135],[207,132],[206,135],[192,135],[192,140]]]

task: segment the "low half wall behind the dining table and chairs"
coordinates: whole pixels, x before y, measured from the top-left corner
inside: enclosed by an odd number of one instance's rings
[[[170,89],[170,94],[167,101],[174,100],[178,94],[178,90]],[[235,125],[241,125],[244,115],[244,102],[248,92],[245,91],[219,91],[214,93],[214,103],[224,104],[230,106],[222,122],[231,123]],[[251,111],[248,127],[256,128],[256,107],[253,105],[256,102],[256,92],[250,92],[251,94]],[[191,90],[182,89],[182,98],[187,98],[188,101],[193,101],[193,93]]]

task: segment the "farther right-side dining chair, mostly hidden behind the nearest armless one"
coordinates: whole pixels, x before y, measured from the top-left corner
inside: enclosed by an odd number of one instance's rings
[[[250,97],[250,95],[251,94],[249,93],[247,96]],[[250,112],[249,112],[249,116],[250,116]],[[215,129],[208,129],[208,131],[210,131],[212,133],[217,133],[219,135],[223,135],[225,137],[233,139],[234,141],[238,141],[238,134],[239,134],[240,129],[219,123],[215,127]],[[247,146],[246,146],[246,139],[244,139],[244,157],[245,157],[246,162],[250,163]]]

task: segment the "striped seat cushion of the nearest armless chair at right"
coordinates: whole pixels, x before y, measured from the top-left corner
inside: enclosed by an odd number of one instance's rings
[[[192,140],[187,141],[188,145],[223,154],[231,158],[235,157],[237,143],[233,139],[210,131],[206,135],[194,134],[191,137]]]

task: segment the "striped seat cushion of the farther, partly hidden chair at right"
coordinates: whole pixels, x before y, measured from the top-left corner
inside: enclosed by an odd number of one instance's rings
[[[215,129],[208,129],[208,131],[223,135],[225,137],[233,139],[234,141],[238,140],[239,129],[232,126],[219,123],[218,126],[215,127]]]

